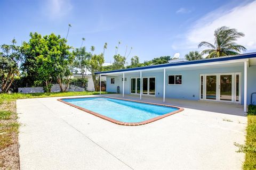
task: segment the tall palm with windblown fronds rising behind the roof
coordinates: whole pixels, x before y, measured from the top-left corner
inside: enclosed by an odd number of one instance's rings
[[[246,50],[244,46],[235,43],[238,38],[244,37],[244,33],[238,32],[236,29],[226,26],[217,28],[214,31],[214,37],[214,45],[205,41],[198,45],[198,48],[202,46],[209,48],[202,52],[202,55],[207,54],[206,58],[236,55]]]

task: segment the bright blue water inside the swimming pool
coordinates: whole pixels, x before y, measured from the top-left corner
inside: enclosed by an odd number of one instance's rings
[[[178,110],[178,108],[175,107],[149,105],[104,97],[62,100],[89,111],[113,118],[114,120],[128,123],[146,121],[150,118]]]

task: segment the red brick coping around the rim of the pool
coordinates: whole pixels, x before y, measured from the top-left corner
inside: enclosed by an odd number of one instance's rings
[[[132,101],[132,102],[135,102],[135,103],[143,103],[143,104],[149,104],[149,105],[157,105],[157,106],[165,106],[165,107],[174,107],[174,108],[178,108],[179,110],[177,111],[174,111],[174,112],[170,112],[170,113],[166,113],[164,115],[161,115],[161,116],[157,116],[157,117],[154,117],[154,118],[150,118],[149,120],[146,120],[146,121],[142,121],[142,122],[135,122],[135,123],[128,123],[128,122],[120,122],[120,121],[117,121],[113,118],[110,118],[110,117],[107,117],[107,116],[104,116],[104,115],[101,115],[99,113],[96,113],[96,112],[92,112],[92,111],[89,111],[83,107],[79,107],[79,106],[76,106],[76,105],[73,105],[71,103],[68,103],[67,101],[63,101],[63,99],[81,99],[81,98],[98,98],[98,97],[102,97],[102,98],[112,98],[112,99],[118,99],[118,100],[126,100],[126,101]],[[62,103],[65,103],[69,106],[73,106],[75,108],[78,108],[82,111],[85,111],[87,113],[90,113],[94,116],[97,116],[97,117],[100,117],[100,118],[103,118],[104,120],[107,120],[109,122],[112,122],[112,123],[115,123],[115,124],[118,124],[118,125],[125,125],[125,126],[138,126],[138,125],[143,125],[143,124],[148,124],[148,123],[151,123],[151,122],[155,122],[161,118],[164,118],[164,117],[167,117],[167,116],[170,116],[170,115],[173,115],[175,113],[179,113],[181,111],[183,111],[184,109],[181,108],[181,107],[177,107],[177,106],[170,106],[170,105],[163,105],[163,104],[155,104],[155,103],[148,103],[148,102],[144,102],[144,101],[137,101],[137,100],[129,100],[129,99],[121,99],[121,98],[115,98],[115,97],[108,97],[108,96],[93,96],[93,97],[75,97],[75,98],[61,98],[61,99],[57,99],[58,101],[61,101]]]

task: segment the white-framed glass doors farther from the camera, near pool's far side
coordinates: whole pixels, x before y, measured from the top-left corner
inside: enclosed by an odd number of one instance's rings
[[[142,78],[142,82],[140,81],[140,78],[131,78],[131,94],[140,94],[141,85],[143,95],[155,95],[156,78]]]

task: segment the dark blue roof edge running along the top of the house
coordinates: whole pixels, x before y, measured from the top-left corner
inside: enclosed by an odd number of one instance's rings
[[[135,67],[131,69],[104,71],[104,72],[97,72],[95,74],[131,72],[131,71],[141,71],[141,70],[151,70],[151,69],[164,69],[166,67],[174,67],[174,66],[187,67],[189,65],[195,65],[195,64],[199,66],[206,63],[210,64],[213,62],[228,62],[232,60],[235,61],[235,60],[243,60],[243,59],[249,59],[249,58],[256,58],[256,52],[233,55],[233,56],[218,57],[218,58],[209,58],[209,59],[203,59],[203,60],[182,61],[182,62],[173,62],[173,63],[150,65],[150,66],[143,66],[143,67]]]

